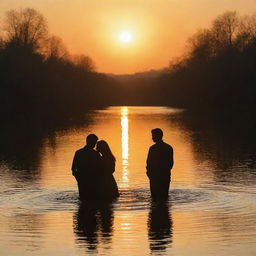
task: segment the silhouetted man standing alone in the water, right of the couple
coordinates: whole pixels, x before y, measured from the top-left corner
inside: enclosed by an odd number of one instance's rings
[[[155,142],[149,148],[147,157],[147,176],[150,181],[150,192],[153,199],[167,199],[171,169],[173,167],[173,149],[163,142],[163,131],[153,129],[152,140]]]

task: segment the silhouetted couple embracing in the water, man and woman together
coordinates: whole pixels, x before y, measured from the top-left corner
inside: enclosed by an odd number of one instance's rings
[[[86,145],[76,151],[73,159],[72,174],[81,201],[113,200],[119,196],[113,176],[116,159],[106,141],[97,141],[95,134],[89,134]]]

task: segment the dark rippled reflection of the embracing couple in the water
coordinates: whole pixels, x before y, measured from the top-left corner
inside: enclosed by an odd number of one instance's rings
[[[85,243],[89,251],[96,251],[98,239],[111,243],[113,234],[113,210],[111,204],[85,205],[81,204],[74,215],[74,233],[77,243]]]

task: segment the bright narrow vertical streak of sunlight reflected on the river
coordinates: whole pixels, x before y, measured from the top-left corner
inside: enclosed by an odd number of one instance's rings
[[[129,159],[129,119],[128,119],[128,107],[121,107],[121,129],[122,129],[122,180],[121,187],[129,187],[129,171],[128,171],[128,159]]]

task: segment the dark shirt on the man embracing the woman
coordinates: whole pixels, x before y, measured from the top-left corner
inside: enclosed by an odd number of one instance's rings
[[[100,154],[96,150],[85,146],[76,151],[73,163],[72,174],[76,179],[92,178],[100,176]]]

